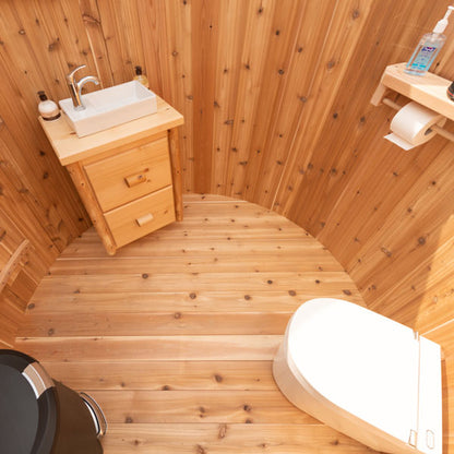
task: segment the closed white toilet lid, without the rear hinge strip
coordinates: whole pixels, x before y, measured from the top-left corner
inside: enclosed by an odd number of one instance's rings
[[[288,363],[312,394],[408,443],[417,430],[419,342],[360,306],[313,299],[287,328]]]

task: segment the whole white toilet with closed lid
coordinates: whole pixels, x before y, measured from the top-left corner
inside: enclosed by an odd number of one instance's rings
[[[298,408],[377,451],[442,454],[440,346],[407,326],[312,299],[288,323],[273,374]]]

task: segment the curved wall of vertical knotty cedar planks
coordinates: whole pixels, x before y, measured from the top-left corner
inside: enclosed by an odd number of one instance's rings
[[[1,263],[23,240],[31,248],[2,292],[0,338],[13,340],[34,286],[88,225],[36,120],[36,92],[68,97],[75,64],[104,86],[141,64],[184,115],[184,190],[246,199],[308,229],[371,309],[442,343],[452,387],[454,145],[435,138],[405,153],[382,140],[394,112],[369,104],[384,68],[450,3],[2,0]],[[446,32],[432,70],[454,79]]]

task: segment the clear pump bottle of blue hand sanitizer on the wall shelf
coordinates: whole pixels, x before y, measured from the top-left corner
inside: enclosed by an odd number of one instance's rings
[[[431,33],[426,33],[413,52],[409,59],[405,72],[414,75],[425,75],[440,49],[443,47],[446,36],[443,35],[444,29],[447,25],[447,17],[454,7],[447,7],[446,14],[439,21]]]

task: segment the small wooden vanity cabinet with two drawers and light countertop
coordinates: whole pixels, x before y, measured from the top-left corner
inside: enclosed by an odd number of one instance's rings
[[[109,254],[182,219],[177,127],[183,117],[163,99],[156,113],[85,138],[64,117],[39,121]]]

